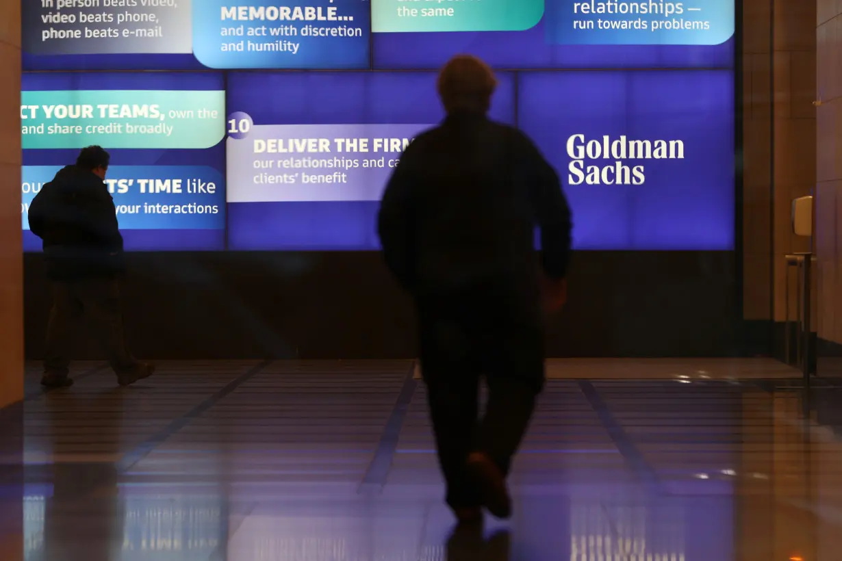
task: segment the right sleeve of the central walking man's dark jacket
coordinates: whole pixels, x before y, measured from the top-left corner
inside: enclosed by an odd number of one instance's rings
[[[523,136],[525,161],[530,171],[530,195],[541,229],[541,266],[546,276],[561,280],[567,276],[573,221],[562,182],[541,151]]]

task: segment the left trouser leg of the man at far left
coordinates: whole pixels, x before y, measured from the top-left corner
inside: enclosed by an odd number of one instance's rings
[[[74,294],[72,283],[53,283],[52,297],[44,346],[44,371],[54,376],[67,376],[77,321],[83,307]]]

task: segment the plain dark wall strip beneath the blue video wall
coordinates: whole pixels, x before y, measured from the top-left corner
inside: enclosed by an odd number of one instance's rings
[[[138,356],[405,358],[413,310],[369,252],[131,253],[126,331]],[[26,254],[25,335],[41,356],[49,284]],[[701,357],[743,352],[735,256],[727,251],[585,251],[551,357]],[[489,303],[493,304],[493,303]],[[78,358],[101,357],[88,326]]]

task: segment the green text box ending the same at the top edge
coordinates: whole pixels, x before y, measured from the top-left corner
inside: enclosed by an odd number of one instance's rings
[[[453,15],[424,15],[450,10]],[[414,10],[410,15],[408,10]],[[375,33],[523,31],[544,14],[544,0],[372,0]]]

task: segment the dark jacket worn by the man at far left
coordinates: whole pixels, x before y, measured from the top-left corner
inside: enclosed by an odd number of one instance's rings
[[[111,276],[123,267],[123,236],[114,198],[102,179],[67,166],[29,205],[29,230],[44,242],[54,279]]]

